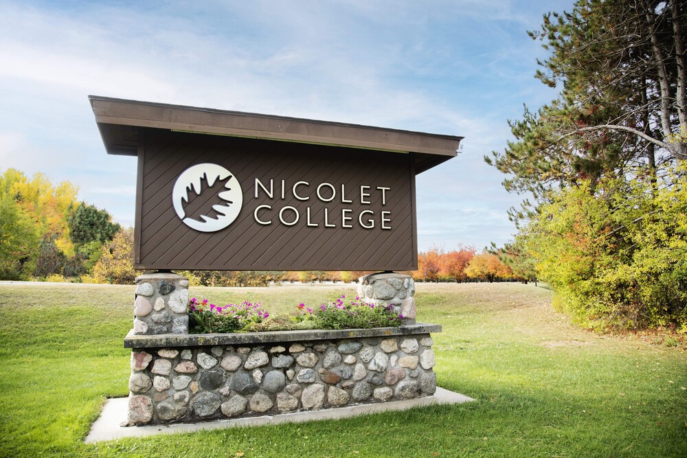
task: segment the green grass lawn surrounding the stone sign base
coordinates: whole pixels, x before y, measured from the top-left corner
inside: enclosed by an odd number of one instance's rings
[[[475,398],[347,420],[82,444],[126,396],[133,286],[0,284],[0,457],[686,457],[687,352],[572,328],[550,291],[418,284],[438,385]],[[351,286],[192,288],[270,312]]]

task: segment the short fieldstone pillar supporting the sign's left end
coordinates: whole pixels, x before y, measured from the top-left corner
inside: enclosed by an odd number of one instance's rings
[[[136,279],[134,334],[188,334],[188,279],[148,273]]]

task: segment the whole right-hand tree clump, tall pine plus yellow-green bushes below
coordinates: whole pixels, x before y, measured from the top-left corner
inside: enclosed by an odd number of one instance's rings
[[[687,332],[687,6],[579,0],[529,32],[559,89],[485,157],[529,195],[498,253],[597,330]]]

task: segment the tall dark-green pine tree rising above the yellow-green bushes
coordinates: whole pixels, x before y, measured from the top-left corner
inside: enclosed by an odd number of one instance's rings
[[[536,112],[526,107],[509,122],[516,141],[485,157],[512,175],[506,189],[545,201],[583,179],[655,179],[687,159],[685,24],[679,0],[580,0],[545,14],[528,32],[551,52],[536,76],[561,93]]]

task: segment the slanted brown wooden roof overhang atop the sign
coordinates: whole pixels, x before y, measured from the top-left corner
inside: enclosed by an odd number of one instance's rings
[[[463,137],[89,95],[108,154],[136,156],[141,128],[414,153],[416,173],[455,157]]]

